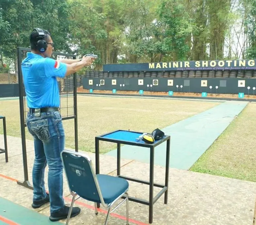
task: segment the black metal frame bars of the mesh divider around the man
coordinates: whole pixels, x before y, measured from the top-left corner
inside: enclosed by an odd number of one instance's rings
[[[23,88],[23,78],[21,71],[21,62],[22,62],[22,52],[30,52],[30,48],[17,48],[17,56],[18,56],[18,81],[19,81],[19,102],[20,102],[20,128],[21,128],[21,142],[22,142],[22,156],[23,156],[23,170],[24,170],[24,181],[17,181],[17,184],[27,187],[29,189],[33,189],[33,186],[30,185],[28,180],[28,163],[27,163],[27,148],[26,148],[26,134],[25,134],[25,90]],[[73,57],[76,59],[76,55],[53,52],[52,55],[61,55],[66,57]],[[78,127],[77,127],[77,85],[76,85],[76,73],[73,76],[74,79],[74,115],[63,117],[62,120],[74,119],[75,126],[75,151],[78,152]]]

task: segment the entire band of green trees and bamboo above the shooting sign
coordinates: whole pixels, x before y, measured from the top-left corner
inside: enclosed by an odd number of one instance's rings
[[[238,7],[234,13],[232,7]],[[241,20],[244,43],[232,29]],[[35,27],[49,30],[57,52],[99,56],[108,63],[256,57],[254,0],[1,0],[0,64],[29,47]],[[234,54],[233,54],[234,53]],[[245,56],[246,53],[246,56]],[[84,71],[82,71],[84,72]]]

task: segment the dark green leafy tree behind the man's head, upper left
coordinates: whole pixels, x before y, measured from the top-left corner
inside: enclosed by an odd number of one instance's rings
[[[36,27],[52,33],[55,50],[69,51],[67,45],[67,9],[61,0],[2,0],[0,3],[1,55],[15,62],[18,73],[17,47],[29,47],[29,35]],[[1,57],[2,58],[2,57]]]

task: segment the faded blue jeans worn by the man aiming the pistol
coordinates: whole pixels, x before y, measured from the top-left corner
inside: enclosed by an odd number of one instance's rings
[[[28,114],[27,127],[34,137],[35,161],[33,166],[33,201],[46,197],[44,172],[49,167],[48,186],[50,211],[58,212],[64,206],[63,200],[63,165],[60,153],[65,146],[65,134],[59,112]]]

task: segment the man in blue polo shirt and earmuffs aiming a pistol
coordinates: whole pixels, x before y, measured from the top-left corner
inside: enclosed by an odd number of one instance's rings
[[[60,153],[65,147],[65,132],[59,113],[57,77],[73,74],[84,66],[89,66],[93,59],[51,59],[54,43],[50,32],[40,28],[33,30],[29,39],[31,52],[22,61],[21,70],[29,107],[26,123],[34,137],[35,147],[32,207],[36,209],[50,202],[50,220],[58,221],[67,218],[69,207],[63,201],[63,166]],[[44,187],[46,164],[49,166],[49,194]],[[80,211],[78,207],[74,207],[71,217],[78,215]]]

